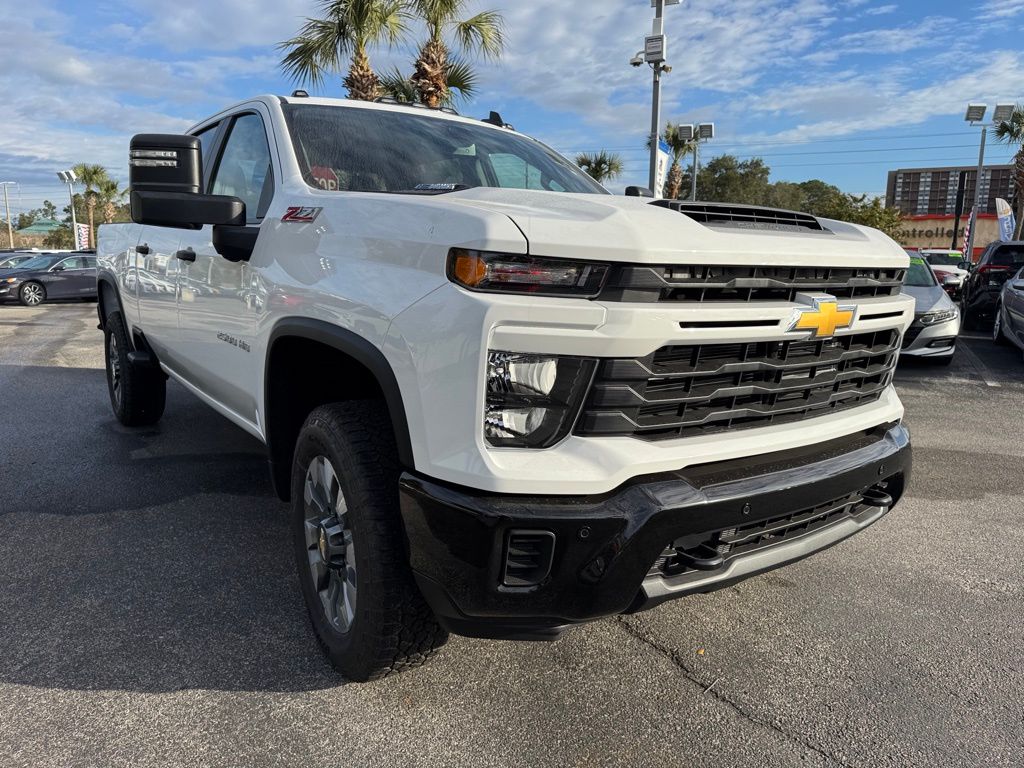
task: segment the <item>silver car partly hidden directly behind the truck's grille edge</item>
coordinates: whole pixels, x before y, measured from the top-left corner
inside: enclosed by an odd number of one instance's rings
[[[956,350],[959,309],[939,286],[928,262],[913,253],[903,293],[912,296],[916,306],[913,324],[903,336],[900,354],[948,366]]]

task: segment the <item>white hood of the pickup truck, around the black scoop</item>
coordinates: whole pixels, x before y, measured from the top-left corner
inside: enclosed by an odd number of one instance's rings
[[[640,198],[476,187],[446,203],[508,216],[538,256],[646,264],[906,266],[882,232],[819,219],[823,232],[707,225]]]

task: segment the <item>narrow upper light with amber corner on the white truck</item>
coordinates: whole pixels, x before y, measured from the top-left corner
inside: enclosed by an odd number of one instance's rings
[[[453,248],[449,280],[470,291],[592,298],[601,292],[608,265]]]

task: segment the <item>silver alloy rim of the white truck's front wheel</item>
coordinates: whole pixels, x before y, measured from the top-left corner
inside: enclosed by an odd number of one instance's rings
[[[309,462],[303,507],[306,559],[313,590],[328,624],[344,634],[355,620],[355,545],[345,495],[326,456]]]

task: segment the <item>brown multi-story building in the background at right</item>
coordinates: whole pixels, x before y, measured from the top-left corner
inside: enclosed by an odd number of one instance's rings
[[[956,190],[964,174],[964,212],[974,205],[977,167],[963,168],[901,168],[889,171],[886,205],[899,208],[907,216],[953,216],[956,213]],[[1013,166],[985,166],[981,175],[981,211],[995,213],[995,199],[1012,201],[1014,197]]]

